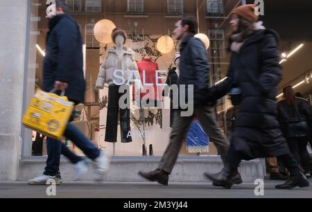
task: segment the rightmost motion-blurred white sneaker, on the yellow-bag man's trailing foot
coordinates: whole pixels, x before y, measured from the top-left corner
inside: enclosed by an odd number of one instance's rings
[[[110,152],[101,151],[100,155],[94,159],[94,162],[96,163],[95,180],[101,181],[110,168]]]

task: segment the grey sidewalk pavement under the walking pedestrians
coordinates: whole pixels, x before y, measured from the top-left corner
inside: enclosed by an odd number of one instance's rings
[[[162,186],[153,182],[63,182],[55,188],[55,196],[46,195],[48,186],[29,186],[26,182],[0,182],[1,198],[311,198],[311,186],[293,190],[274,188],[281,181],[264,181],[264,195],[254,195],[257,185],[241,184],[232,189],[218,188],[207,184],[170,183]]]

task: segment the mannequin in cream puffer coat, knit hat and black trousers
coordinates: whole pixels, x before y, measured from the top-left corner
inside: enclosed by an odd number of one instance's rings
[[[127,34],[124,30],[115,29],[112,33],[114,41],[114,48],[109,48],[107,58],[101,65],[98,73],[98,80],[96,80],[96,89],[103,89],[104,84],[108,84],[108,105],[107,105],[107,121],[105,141],[115,143],[117,140],[117,125],[118,117],[121,126],[121,142],[128,143],[132,141],[130,132],[130,109],[121,109],[119,100],[121,96],[127,95],[130,100],[130,92],[124,91],[119,93],[119,88],[128,84],[128,76],[135,71],[138,80],[135,81],[136,89],[140,89],[141,82],[139,78],[139,71],[137,63],[133,59],[134,51],[123,46],[127,39]],[[122,75],[122,76],[121,76]],[[124,80],[116,78],[116,76],[123,77]],[[132,76],[133,77],[133,76]],[[121,82],[122,81],[122,82]],[[117,83],[118,82],[118,83]],[[119,84],[119,82],[121,82]],[[133,80],[130,79],[130,82]]]

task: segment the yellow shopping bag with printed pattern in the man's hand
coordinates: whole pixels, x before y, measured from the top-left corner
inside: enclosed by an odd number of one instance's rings
[[[59,140],[73,112],[73,103],[66,96],[37,89],[22,123],[25,127]]]

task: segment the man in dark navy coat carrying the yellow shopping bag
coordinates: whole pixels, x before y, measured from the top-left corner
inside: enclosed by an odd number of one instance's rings
[[[46,56],[43,65],[43,90],[53,89],[75,104],[83,103],[85,98],[85,78],[83,76],[83,41],[78,24],[65,12],[67,6],[56,1],[47,8],[49,33],[46,39]],[[85,155],[97,164],[96,179],[101,179],[107,170],[109,159],[107,153],[98,150],[76,127],[67,124],[64,136],[83,150]],[[73,154],[64,143],[51,138],[46,139],[48,159],[43,175],[30,179],[28,184],[46,184],[48,179],[60,184],[60,155],[68,157],[76,169],[76,179],[87,172],[87,161]]]

